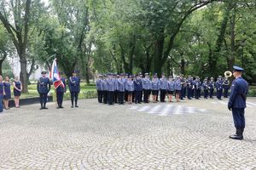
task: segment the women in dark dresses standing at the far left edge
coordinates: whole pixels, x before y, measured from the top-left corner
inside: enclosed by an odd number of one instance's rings
[[[0,112],[3,112],[3,108],[9,110],[9,99],[11,99],[11,85],[13,85],[15,96],[15,107],[20,107],[20,92],[22,91],[22,84],[19,77],[15,77],[15,80],[10,81],[9,77],[0,75]]]

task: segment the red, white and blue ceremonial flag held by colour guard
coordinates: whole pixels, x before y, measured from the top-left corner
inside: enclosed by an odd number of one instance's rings
[[[64,88],[64,84],[63,84],[63,82],[61,82],[61,76],[60,76],[60,72],[57,67],[56,59],[54,59],[54,62],[51,66],[49,78],[52,79],[55,89],[58,88],[59,86]]]

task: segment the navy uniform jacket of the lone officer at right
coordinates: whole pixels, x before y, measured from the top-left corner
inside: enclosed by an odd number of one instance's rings
[[[231,108],[246,108],[246,95],[248,91],[248,82],[242,77],[237,77],[231,86],[229,106]]]

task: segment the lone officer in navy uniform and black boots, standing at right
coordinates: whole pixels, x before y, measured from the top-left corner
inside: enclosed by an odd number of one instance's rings
[[[245,127],[245,108],[247,100],[248,82],[242,77],[243,69],[236,65],[233,66],[233,76],[236,78],[232,82],[228,109],[232,110],[233,120],[236,127],[236,134],[231,135],[230,139],[243,139],[243,130]]]

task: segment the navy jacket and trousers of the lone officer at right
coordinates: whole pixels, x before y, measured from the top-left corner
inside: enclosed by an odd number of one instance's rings
[[[244,109],[246,108],[247,90],[248,83],[242,77],[237,77],[232,82],[228,107],[232,109],[236,129],[245,127]]]

